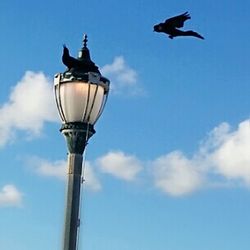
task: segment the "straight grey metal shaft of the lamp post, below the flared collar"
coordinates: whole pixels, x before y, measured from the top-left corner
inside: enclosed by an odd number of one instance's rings
[[[63,250],[75,250],[77,246],[82,159],[81,154],[68,154],[68,185]]]

